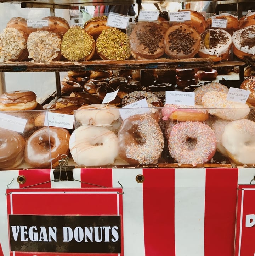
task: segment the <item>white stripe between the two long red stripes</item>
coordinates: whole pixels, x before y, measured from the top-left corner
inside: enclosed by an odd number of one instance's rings
[[[175,255],[204,255],[205,169],[175,169]]]

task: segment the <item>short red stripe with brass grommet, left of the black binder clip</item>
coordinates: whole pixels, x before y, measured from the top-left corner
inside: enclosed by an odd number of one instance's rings
[[[50,188],[50,171],[51,169],[19,170],[19,175],[23,175],[26,179],[26,182],[19,187]]]

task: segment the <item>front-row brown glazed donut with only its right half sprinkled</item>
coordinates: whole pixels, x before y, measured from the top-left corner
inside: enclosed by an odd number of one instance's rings
[[[119,156],[129,164],[152,164],[159,159],[164,138],[160,126],[149,115],[126,118],[118,132]]]

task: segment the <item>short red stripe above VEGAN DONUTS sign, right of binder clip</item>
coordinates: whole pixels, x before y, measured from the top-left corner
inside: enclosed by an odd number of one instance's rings
[[[81,169],[81,187],[112,187],[112,169]]]

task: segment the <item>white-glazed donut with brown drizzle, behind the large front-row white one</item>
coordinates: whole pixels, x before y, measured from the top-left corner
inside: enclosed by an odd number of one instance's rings
[[[75,113],[76,121],[86,126],[111,126],[112,122],[118,120],[119,116],[119,108],[109,104],[81,106]]]

